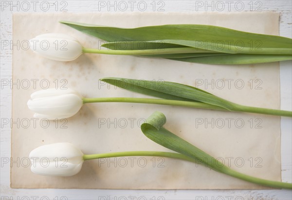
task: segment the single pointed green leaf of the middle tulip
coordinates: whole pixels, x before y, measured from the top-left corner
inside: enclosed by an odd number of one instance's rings
[[[199,101],[216,105],[227,110],[232,110],[235,106],[234,103],[221,99],[211,93],[176,82],[164,80],[135,80],[115,77],[103,78],[101,80],[132,92],[168,100]]]

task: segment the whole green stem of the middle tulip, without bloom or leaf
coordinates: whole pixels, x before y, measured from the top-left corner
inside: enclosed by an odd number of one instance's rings
[[[203,103],[203,102],[183,101],[183,100],[163,100],[163,99],[148,99],[148,98],[120,98],[120,97],[83,98],[83,103],[95,103],[95,102],[148,103],[148,104],[173,105],[173,106],[183,106],[183,107],[227,111],[227,109],[216,106],[216,105],[211,105],[211,104]],[[257,107],[239,105],[239,104],[235,104],[235,103],[234,103],[234,107],[232,108],[231,111],[292,117],[292,111],[274,110],[274,109],[268,109],[268,108],[257,108]]]

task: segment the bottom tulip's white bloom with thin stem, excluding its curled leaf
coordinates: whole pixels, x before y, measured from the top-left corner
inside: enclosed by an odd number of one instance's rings
[[[182,154],[159,151],[127,151],[85,155],[79,148],[67,142],[39,146],[29,154],[33,173],[58,177],[69,177],[77,174],[85,160],[128,156],[157,156],[195,161]]]

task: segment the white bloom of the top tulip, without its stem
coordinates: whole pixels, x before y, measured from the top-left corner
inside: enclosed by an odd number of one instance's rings
[[[71,61],[82,54],[83,46],[71,36],[48,33],[31,39],[30,48],[51,60]]]

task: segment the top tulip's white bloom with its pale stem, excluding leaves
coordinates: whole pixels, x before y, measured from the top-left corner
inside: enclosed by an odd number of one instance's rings
[[[48,33],[38,35],[30,40],[31,49],[39,55],[57,61],[72,61],[77,59],[82,53],[108,54],[108,55],[133,55],[152,56],[178,53],[204,53],[209,52],[192,47],[167,48],[163,51],[157,49],[145,50],[111,50],[84,48],[79,41],[66,34]]]

